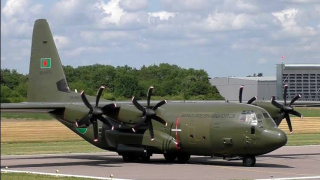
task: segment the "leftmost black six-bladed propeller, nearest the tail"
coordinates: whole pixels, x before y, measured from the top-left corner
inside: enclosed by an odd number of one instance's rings
[[[80,119],[79,121],[77,121],[75,123],[76,127],[81,127],[81,126],[88,127],[90,124],[92,124],[95,142],[98,141],[98,122],[97,122],[97,120],[100,120],[101,122],[110,126],[111,130],[114,129],[114,126],[102,115],[104,113],[103,109],[112,108],[112,107],[115,107],[116,105],[115,104],[108,104],[108,105],[105,105],[102,109],[100,109],[98,107],[99,100],[100,100],[100,97],[101,97],[103,90],[104,90],[104,87],[101,86],[98,90],[97,97],[96,97],[96,104],[94,107],[92,107],[92,105],[89,103],[84,91],[81,92],[81,99],[82,99],[83,103],[89,108],[89,112],[85,117],[83,117],[82,119]]]

